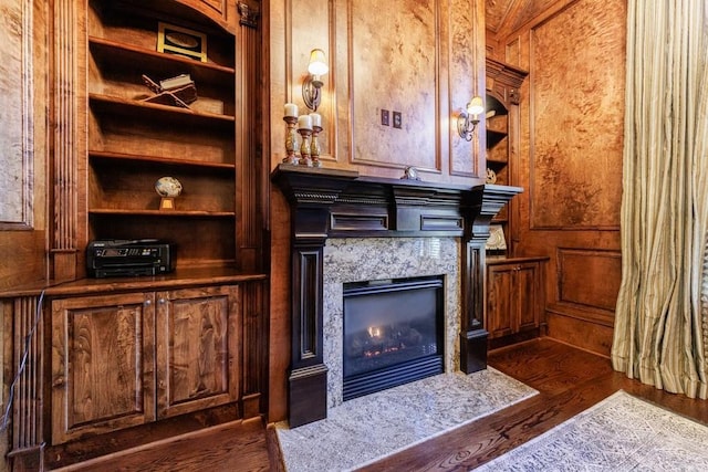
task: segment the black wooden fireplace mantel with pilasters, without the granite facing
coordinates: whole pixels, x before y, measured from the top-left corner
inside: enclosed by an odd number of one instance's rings
[[[335,238],[462,238],[460,369],[487,367],[485,244],[491,219],[522,189],[464,187],[281,164],[272,175],[291,208],[291,428],[326,418],[323,249]]]

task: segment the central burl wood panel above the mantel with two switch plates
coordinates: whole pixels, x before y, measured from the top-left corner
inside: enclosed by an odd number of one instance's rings
[[[399,168],[405,157],[407,165],[440,171],[438,2],[407,3],[350,2],[352,162]],[[391,114],[388,126],[383,111]]]

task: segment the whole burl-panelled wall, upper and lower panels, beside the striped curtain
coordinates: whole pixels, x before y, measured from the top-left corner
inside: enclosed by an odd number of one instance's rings
[[[548,255],[549,336],[610,355],[622,279],[626,2],[556,0],[500,31],[521,87],[516,255]],[[529,8],[531,8],[529,6]],[[521,18],[522,17],[522,18]]]

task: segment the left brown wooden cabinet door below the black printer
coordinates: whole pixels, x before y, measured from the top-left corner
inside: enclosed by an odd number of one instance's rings
[[[155,419],[153,295],[52,302],[52,442]]]

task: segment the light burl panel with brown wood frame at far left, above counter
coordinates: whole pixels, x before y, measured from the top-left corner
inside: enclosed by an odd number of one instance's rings
[[[46,272],[48,8],[29,0],[0,6],[0,289]]]

